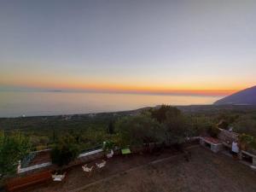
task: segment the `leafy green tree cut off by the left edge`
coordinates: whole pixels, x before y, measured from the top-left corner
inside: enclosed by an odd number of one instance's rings
[[[20,132],[6,135],[0,131],[0,178],[15,174],[19,160],[30,152],[32,144]]]

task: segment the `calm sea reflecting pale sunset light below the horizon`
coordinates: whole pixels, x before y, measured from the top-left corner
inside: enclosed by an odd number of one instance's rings
[[[0,91],[0,117],[102,113],[168,105],[207,105],[221,96],[177,96],[63,91]]]

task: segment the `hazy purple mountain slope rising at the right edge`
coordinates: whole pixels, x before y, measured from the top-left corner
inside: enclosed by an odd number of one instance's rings
[[[226,96],[223,99],[214,102],[213,104],[256,105],[256,86],[253,86],[246,90],[238,91],[231,96]]]

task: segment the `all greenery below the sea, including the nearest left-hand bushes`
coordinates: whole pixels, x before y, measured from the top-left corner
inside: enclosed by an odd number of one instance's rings
[[[2,182],[15,174],[19,160],[31,149],[51,148],[52,162],[61,167],[103,142],[106,154],[115,146],[149,147],[149,143],[182,149],[188,137],[218,137],[218,128],[240,133],[242,149],[256,149],[256,109],[241,107],[162,105],[121,113],[0,119],[0,128]]]

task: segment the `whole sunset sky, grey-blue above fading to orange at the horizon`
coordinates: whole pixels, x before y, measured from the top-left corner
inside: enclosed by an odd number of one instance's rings
[[[0,0],[0,88],[228,95],[256,84],[256,1]]]

